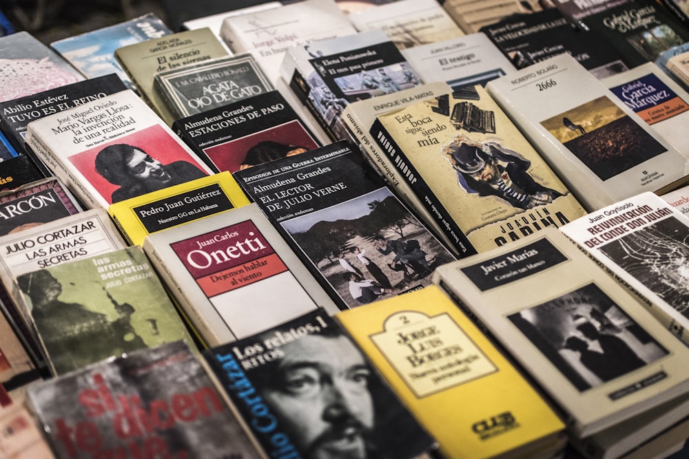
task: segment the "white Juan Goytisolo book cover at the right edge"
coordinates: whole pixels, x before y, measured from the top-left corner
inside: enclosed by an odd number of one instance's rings
[[[689,343],[689,219],[655,193],[610,204],[560,228],[648,301]]]

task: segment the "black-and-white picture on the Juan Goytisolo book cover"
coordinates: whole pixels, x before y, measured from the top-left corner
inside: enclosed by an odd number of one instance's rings
[[[689,228],[667,217],[599,246],[601,253],[689,318]]]

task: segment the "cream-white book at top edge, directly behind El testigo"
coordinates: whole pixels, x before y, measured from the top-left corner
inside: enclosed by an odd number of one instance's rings
[[[349,21],[359,32],[382,30],[400,50],[464,35],[435,0],[397,0],[350,14]]]

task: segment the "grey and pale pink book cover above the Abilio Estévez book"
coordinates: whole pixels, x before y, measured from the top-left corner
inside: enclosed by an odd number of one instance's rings
[[[0,36],[0,102],[85,79],[68,61],[29,32]]]

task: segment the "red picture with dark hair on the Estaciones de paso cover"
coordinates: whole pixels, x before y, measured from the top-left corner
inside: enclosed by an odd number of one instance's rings
[[[298,120],[264,129],[203,150],[218,171],[235,173],[258,164],[295,156],[315,148],[318,141]]]

